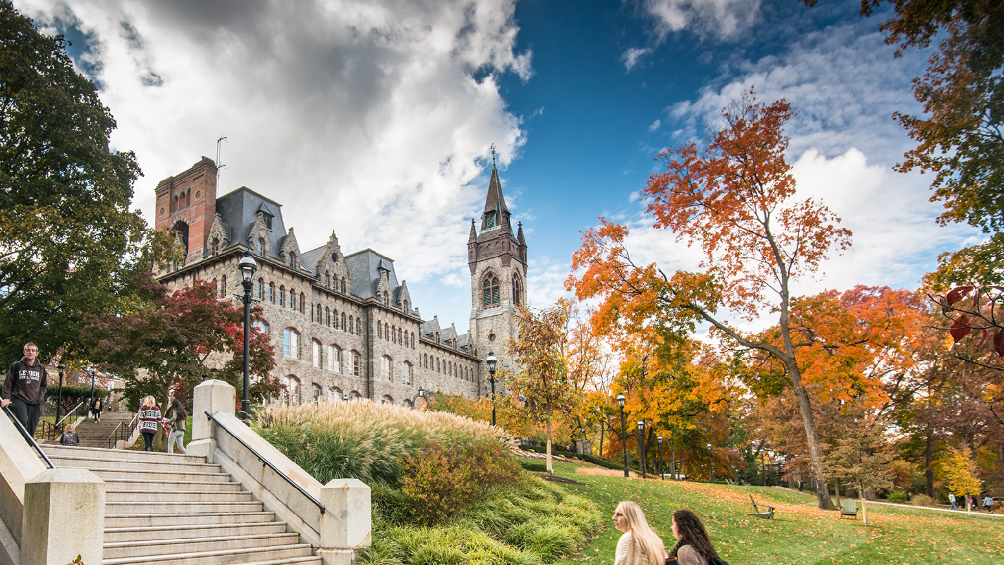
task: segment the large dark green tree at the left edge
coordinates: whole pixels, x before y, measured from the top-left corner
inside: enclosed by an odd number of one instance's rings
[[[0,1],[3,357],[26,341],[74,352],[86,315],[110,308],[135,265],[149,233],[129,209],[141,173],[133,153],[109,150],[114,127],[65,40]]]

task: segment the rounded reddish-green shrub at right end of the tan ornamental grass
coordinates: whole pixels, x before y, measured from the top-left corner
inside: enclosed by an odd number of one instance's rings
[[[436,524],[467,508],[488,488],[519,480],[515,458],[498,443],[431,443],[405,458],[401,492],[422,524]]]

